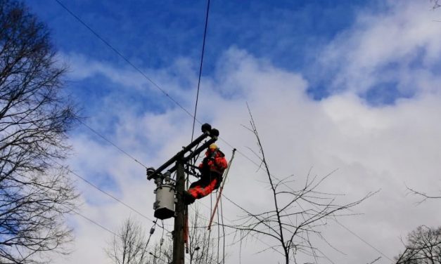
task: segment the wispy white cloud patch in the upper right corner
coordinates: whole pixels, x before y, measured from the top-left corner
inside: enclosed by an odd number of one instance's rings
[[[388,1],[386,6],[380,13],[359,13],[355,24],[319,54],[325,71],[337,70],[332,72],[333,88],[364,92],[378,83],[396,81],[401,91],[418,93],[439,86],[433,70],[441,54],[441,27],[435,21],[440,12],[422,1]],[[409,82],[421,81],[422,69],[426,81],[434,81],[432,87]]]

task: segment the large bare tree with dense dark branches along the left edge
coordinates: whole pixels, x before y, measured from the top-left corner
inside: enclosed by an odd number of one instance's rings
[[[48,29],[23,4],[0,0],[0,263],[68,253],[64,216],[77,194],[58,162],[76,114],[60,95],[64,72]]]

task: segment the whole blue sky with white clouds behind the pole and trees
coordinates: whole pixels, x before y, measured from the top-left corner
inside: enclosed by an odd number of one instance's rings
[[[441,189],[441,10],[421,1],[212,1],[198,120],[219,129],[219,147],[237,154],[224,194],[246,209],[271,208],[246,103],[253,111],[271,173],[309,170],[321,190],[351,202],[380,190],[321,232],[318,263],[391,263],[418,225],[440,225],[441,201],[416,205],[406,185]],[[154,81],[153,85],[57,1],[25,1],[51,29],[60,61],[70,65],[66,92],[84,123],[146,166],[160,166],[191,140],[205,1],[63,1],[63,4]],[[196,125],[196,135],[200,133]],[[89,128],[70,133],[72,171],[153,219],[153,183],[145,169]],[[109,230],[128,216],[151,221],[72,174],[82,215]],[[210,198],[196,202],[206,218]],[[224,200],[227,223],[243,215]],[[72,216],[74,252],[57,263],[110,263],[112,235]],[[165,221],[172,230],[172,220]],[[349,229],[350,231],[348,231]],[[354,234],[357,234],[355,236]],[[160,230],[153,239],[160,239]],[[380,252],[362,241],[371,244]],[[316,240],[316,239],[314,239]],[[259,237],[243,244],[241,263],[279,263]],[[239,263],[238,244],[226,248]],[[383,255],[384,254],[384,255]],[[305,256],[299,260],[313,262]],[[301,262],[301,263],[303,263]]]

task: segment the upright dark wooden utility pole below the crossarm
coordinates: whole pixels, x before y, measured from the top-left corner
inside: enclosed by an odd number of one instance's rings
[[[176,176],[176,217],[174,218],[173,231],[173,264],[184,264],[184,156],[178,157]]]

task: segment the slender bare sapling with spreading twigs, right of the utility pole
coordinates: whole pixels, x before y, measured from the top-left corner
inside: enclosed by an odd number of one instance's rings
[[[243,209],[246,215],[240,219],[241,223],[231,227],[241,230],[242,238],[247,235],[260,235],[272,239],[273,243],[265,250],[278,251],[284,256],[286,264],[295,263],[298,253],[312,256],[316,262],[319,257],[326,257],[313,245],[312,236],[317,235],[324,239],[320,232],[321,226],[326,225],[328,220],[334,220],[340,212],[343,213],[356,206],[371,193],[355,202],[337,204],[335,202],[337,194],[319,190],[331,173],[324,177],[311,176],[308,173],[305,183],[295,189],[292,187],[293,176],[280,180],[271,174],[264,154],[262,138],[257,132],[251,112],[248,129],[257,140],[260,152],[258,155],[267,175],[274,204],[271,209],[257,213]]]

